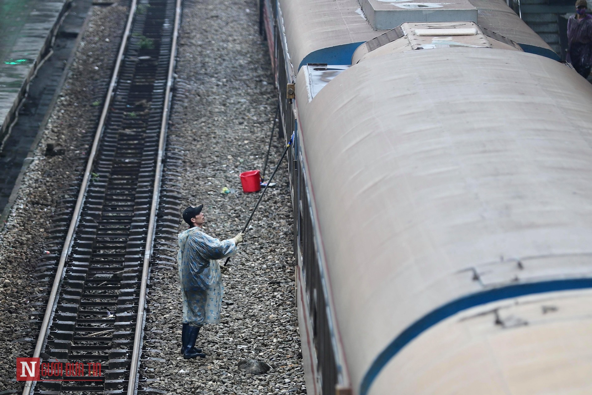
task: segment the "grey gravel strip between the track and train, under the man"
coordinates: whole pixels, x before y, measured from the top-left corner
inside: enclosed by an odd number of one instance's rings
[[[252,1],[186,4],[179,36],[176,95],[169,145],[181,147],[183,207],[203,203],[204,230],[220,239],[244,226],[258,194],[244,194],[239,174],[262,169],[276,110],[269,55]],[[274,139],[270,175],[283,146]],[[141,365],[147,387],[176,393],[304,393],[295,307],[292,209],[282,163],[223,276],[220,325],[204,326],[197,345],[205,359],[185,360],[181,299],[175,268],[152,275],[150,314]],[[224,187],[231,190],[223,194]],[[179,226],[179,232],[186,225]],[[172,341],[171,341],[172,339]],[[271,366],[239,369],[243,359]]]

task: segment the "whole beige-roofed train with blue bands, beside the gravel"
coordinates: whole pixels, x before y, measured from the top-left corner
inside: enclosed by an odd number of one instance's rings
[[[310,394],[592,390],[592,88],[472,3],[388,32],[355,0],[262,7]]]

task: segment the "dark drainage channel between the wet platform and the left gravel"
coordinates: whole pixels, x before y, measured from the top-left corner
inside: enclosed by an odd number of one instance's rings
[[[27,99],[18,112],[17,123],[0,151],[0,214],[8,215],[11,193],[17,183],[25,158],[34,150],[62,88],[69,63],[75,52],[78,36],[91,9],[92,0],[73,2],[57,31],[53,54],[37,70],[31,81]],[[66,67],[65,67],[66,65]],[[0,225],[1,227],[1,225]]]

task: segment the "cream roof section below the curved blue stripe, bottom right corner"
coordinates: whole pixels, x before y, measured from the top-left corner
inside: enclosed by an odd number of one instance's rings
[[[589,289],[477,306],[414,339],[371,393],[590,394],[591,331]]]

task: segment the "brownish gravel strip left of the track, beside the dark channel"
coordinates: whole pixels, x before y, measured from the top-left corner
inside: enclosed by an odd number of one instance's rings
[[[36,266],[43,263],[44,251],[51,249],[48,237],[53,219],[62,216],[60,205],[78,193],[69,196],[69,187],[82,178],[127,8],[115,4],[94,7],[91,13],[35,159],[0,231],[0,391],[22,388],[15,382],[16,358],[33,354],[36,320],[43,319],[48,282],[49,287],[53,282],[53,277],[37,278]],[[45,157],[49,142],[64,148],[64,155]]]

